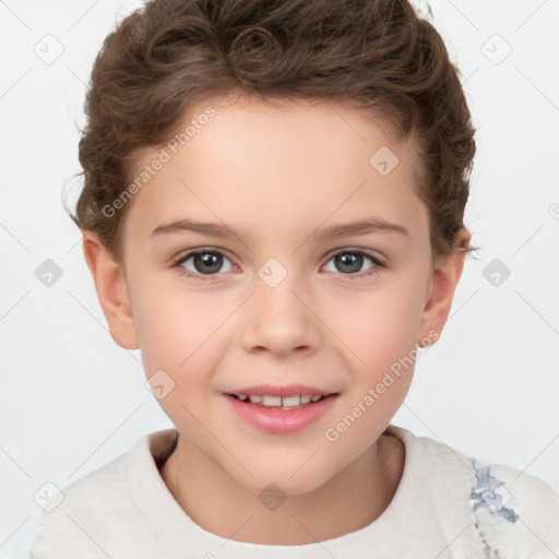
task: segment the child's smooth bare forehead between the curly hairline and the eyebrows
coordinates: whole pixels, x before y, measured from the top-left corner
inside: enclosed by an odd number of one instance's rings
[[[178,130],[188,134],[163,147],[168,160],[135,194],[127,236],[185,216],[261,229],[265,216],[273,237],[295,223],[316,227],[331,216],[333,224],[367,209],[426,224],[412,187],[415,145],[396,144],[370,112],[331,102],[221,97],[191,107]],[[142,154],[138,171],[163,151]]]

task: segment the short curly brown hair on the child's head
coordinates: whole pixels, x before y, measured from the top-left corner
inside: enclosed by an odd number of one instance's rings
[[[429,12],[430,13],[430,12]],[[70,217],[121,263],[131,203],[103,209],[132,180],[138,154],[177,131],[190,107],[231,91],[340,102],[416,140],[433,260],[477,250],[460,239],[475,129],[436,28],[407,0],[151,0],[98,52]],[[68,209],[67,209],[68,212]],[[462,246],[457,246],[457,241]]]

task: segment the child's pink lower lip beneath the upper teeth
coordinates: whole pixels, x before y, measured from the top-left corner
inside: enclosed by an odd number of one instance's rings
[[[248,404],[230,394],[225,394],[225,396],[235,412],[254,427],[270,433],[283,435],[300,431],[317,421],[332,408],[337,394],[330,394],[320,402],[308,404],[298,409],[264,407]]]

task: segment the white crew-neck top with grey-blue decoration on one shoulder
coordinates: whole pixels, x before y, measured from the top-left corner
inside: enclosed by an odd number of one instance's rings
[[[158,466],[178,431],[143,436],[124,454],[63,490],[44,512],[31,559],[552,559],[559,497],[545,481],[390,425],[405,447],[402,479],[371,524],[313,544],[227,539],[182,510]],[[47,507],[48,508],[48,507]]]

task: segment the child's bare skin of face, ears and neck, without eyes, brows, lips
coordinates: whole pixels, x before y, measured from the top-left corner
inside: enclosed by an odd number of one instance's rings
[[[380,121],[333,103],[222,97],[193,107],[185,122],[209,105],[215,117],[134,195],[123,263],[92,233],[84,255],[114,340],[141,348],[147,377],[163,369],[175,382],[159,404],[179,440],[160,474],[182,509],[239,542],[337,537],[373,522],[394,496],[405,453],[382,431],[413,367],[337,440],[324,432],[393,362],[442,332],[464,254],[433,264],[428,209],[411,187],[415,144],[394,143]],[[388,176],[369,164],[383,145],[400,159]],[[156,154],[143,153],[140,167]],[[226,224],[241,238],[151,238],[162,223],[183,217]],[[313,236],[366,218],[399,224],[408,236]],[[466,229],[462,238],[466,246]],[[219,250],[222,267],[212,275],[194,259],[174,267],[197,248]],[[376,264],[364,257],[360,267],[344,267],[332,254],[341,249],[360,249],[384,266],[365,276]],[[258,275],[270,258],[287,272],[275,287]],[[305,430],[271,435],[239,418],[223,395],[266,382],[340,395]],[[271,483],[286,496],[275,510],[259,499]]]

